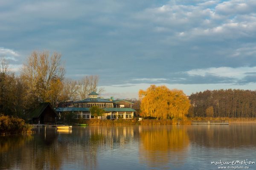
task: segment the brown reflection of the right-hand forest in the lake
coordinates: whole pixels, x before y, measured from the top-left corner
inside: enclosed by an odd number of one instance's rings
[[[232,123],[230,125],[193,125],[188,130],[189,139],[205,147],[256,146],[255,123]]]

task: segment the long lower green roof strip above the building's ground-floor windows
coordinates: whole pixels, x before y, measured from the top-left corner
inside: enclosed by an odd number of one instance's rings
[[[105,110],[105,112],[124,112],[124,111],[130,111],[130,112],[136,112],[132,108],[102,108]],[[56,108],[55,111],[57,112],[65,112],[65,111],[90,111],[90,108]]]

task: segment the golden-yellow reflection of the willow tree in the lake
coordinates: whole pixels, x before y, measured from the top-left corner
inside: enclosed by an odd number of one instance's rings
[[[150,167],[170,168],[184,163],[189,137],[184,126],[141,126],[140,161]],[[170,165],[169,165],[170,166]]]

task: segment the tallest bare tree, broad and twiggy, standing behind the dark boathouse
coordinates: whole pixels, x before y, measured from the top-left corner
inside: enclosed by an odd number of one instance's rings
[[[49,51],[33,51],[27,63],[23,64],[21,77],[27,86],[30,101],[32,97],[34,102],[51,102],[54,105],[64,79],[61,54],[54,52],[49,57]],[[54,87],[56,85],[58,88]]]

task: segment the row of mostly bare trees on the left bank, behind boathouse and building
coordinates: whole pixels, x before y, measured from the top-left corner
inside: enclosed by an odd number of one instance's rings
[[[55,107],[58,102],[79,100],[96,91],[99,76],[85,76],[79,81],[65,78],[61,54],[33,51],[23,64],[20,75],[9,68],[8,60],[0,58],[0,114],[29,119],[31,111],[41,102]]]

